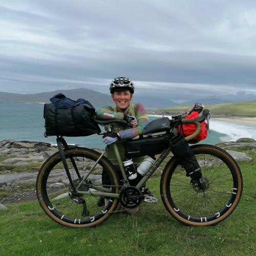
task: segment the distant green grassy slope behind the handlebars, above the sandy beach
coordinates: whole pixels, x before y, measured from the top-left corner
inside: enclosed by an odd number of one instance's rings
[[[172,108],[158,109],[156,111],[173,111],[184,113],[190,108],[191,106],[189,105],[183,105],[173,106]],[[209,109],[213,115],[256,117],[256,100],[206,105],[205,108]]]

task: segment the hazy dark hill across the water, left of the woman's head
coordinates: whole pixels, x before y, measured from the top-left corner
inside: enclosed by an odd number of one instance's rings
[[[46,93],[36,94],[16,94],[0,92],[0,102],[15,102],[15,103],[40,103],[50,102],[50,98],[57,94],[63,93],[71,99],[84,98],[89,100],[94,106],[112,105],[110,95],[99,93],[89,89],[74,89],[74,90],[58,90]]]

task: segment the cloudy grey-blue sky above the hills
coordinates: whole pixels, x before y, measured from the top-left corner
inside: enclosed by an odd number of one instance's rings
[[[0,26],[0,92],[256,94],[254,0],[0,0]]]

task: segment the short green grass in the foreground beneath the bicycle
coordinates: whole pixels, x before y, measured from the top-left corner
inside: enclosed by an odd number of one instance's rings
[[[256,154],[247,154],[256,159]],[[0,255],[252,255],[255,249],[256,161],[239,162],[244,191],[233,214],[213,227],[187,227],[165,210],[159,178],[147,182],[157,204],[143,203],[135,215],[116,214],[92,229],[62,227],[38,202],[0,211]]]

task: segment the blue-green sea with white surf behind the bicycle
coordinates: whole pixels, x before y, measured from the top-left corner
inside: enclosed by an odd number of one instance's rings
[[[13,139],[15,141],[41,141],[56,144],[56,137],[45,137],[44,104],[33,103],[0,103],[0,141]],[[149,116],[150,121],[161,116]],[[216,144],[223,141],[236,141],[239,138],[256,140],[256,129],[250,124],[238,124],[230,121],[210,120],[210,133],[200,143]],[[91,135],[87,137],[65,137],[69,144],[91,148],[104,148],[102,137]]]

